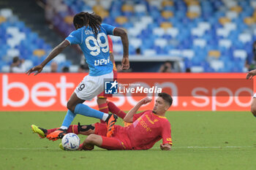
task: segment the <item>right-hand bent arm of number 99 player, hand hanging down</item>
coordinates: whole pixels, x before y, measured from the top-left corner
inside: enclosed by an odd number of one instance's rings
[[[123,44],[123,59],[121,61],[121,69],[129,69],[129,42],[127,32],[121,28],[115,28],[113,31],[114,36],[120,36]]]

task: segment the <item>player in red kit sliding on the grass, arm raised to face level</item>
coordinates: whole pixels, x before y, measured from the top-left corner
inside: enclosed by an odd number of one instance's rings
[[[132,125],[127,127],[115,125],[112,137],[106,137],[108,129],[105,123],[70,125],[68,132],[89,135],[83,144],[80,144],[79,150],[93,150],[94,145],[107,150],[148,150],[160,139],[162,139],[160,148],[170,150],[173,142],[170,122],[165,117],[165,112],[173,103],[173,98],[167,93],[159,93],[153,110],[136,114],[138,109],[148,102],[151,102],[151,98],[140,100],[124,117],[124,121]],[[54,131],[54,129],[43,129],[45,133],[51,130]]]

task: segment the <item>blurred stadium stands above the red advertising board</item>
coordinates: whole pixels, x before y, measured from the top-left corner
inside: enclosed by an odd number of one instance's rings
[[[246,72],[255,65],[255,7],[254,0],[2,0],[0,71],[10,72],[15,56],[26,69],[39,64],[85,11],[127,30],[129,72]],[[112,39],[118,63],[121,39]],[[83,72],[81,55],[78,47],[65,50],[54,59],[58,72]]]

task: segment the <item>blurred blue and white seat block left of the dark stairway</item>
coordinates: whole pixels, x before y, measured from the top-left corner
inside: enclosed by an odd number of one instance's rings
[[[62,9],[65,8],[67,9],[66,5]],[[70,18],[67,17],[64,21],[70,23]],[[25,59],[23,64],[26,69],[30,69],[31,66],[41,63],[52,49],[37,33],[26,27],[13,14],[12,9],[0,9],[0,39],[0,72],[10,72],[10,64],[15,56]],[[60,65],[71,66],[71,62],[66,60],[64,54],[60,54],[55,60]],[[43,72],[50,71],[47,66],[45,68]],[[78,69],[72,71],[77,72]]]

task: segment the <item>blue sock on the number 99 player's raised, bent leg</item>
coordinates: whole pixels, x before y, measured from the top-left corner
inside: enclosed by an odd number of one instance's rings
[[[104,115],[103,112],[100,112],[97,109],[92,109],[91,107],[89,107],[85,104],[78,104],[75,107],[75,114],[80,114],[80,115],[89,116],[89,117],[95,117],[95,118],[98,118],[101,120]]]

